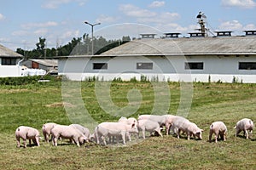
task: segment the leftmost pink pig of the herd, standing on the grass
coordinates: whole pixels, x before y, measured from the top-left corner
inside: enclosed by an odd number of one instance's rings
[[[39,131],[33,127],[20,126],[15,131],[15,136],[17,140],[17,147],[20,147],[20,138],[24,141],[24,147],[26,148],[26,139],[29,139],[29,144],[31,145],[31,139],[34,144],[39,144]]]

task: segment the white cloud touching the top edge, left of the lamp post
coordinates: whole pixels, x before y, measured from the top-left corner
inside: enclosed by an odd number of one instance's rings
[[[46,0],[44,1],[44,4],[42,5],[43,8],[59,8],[62,4],[65,3],[78,3],[79,6],[83,6],[87,0]]]

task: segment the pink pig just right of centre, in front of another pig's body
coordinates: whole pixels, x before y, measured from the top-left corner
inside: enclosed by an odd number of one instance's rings
[[[147,119],[139,120],[137,123],[137,128],[139,131],[143,131],[143,139],[145,139],[145,131],[151,133],[157,132],[162,137],[162,133],[160,132],[160,125],[157,122],[153,122]]]

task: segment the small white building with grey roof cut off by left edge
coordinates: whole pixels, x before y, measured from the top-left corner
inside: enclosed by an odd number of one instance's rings
[[[20,77],[22,55],[0,45],[0,77]]]

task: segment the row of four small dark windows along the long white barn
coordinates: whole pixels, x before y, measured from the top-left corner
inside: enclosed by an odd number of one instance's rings
[[[256,62],[239,62],[239,70],[256,70]],[[186,62],[185,70],[203,70],[203,62]],[[108,70],[108,63],[94,63],[93,70]],[[153,63],[137,63],[137,70],[153,70]]]

